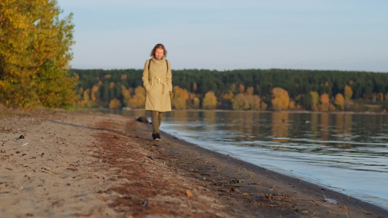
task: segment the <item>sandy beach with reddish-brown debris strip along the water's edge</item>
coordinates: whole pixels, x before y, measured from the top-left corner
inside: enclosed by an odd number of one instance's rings
[[[1,217],[388,217],[151,130],[128,116],[0,107]]]

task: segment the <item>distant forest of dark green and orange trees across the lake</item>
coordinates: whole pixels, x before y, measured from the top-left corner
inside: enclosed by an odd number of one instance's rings
[[[142,69],[71,69],[75,106],[144,108]],[[175,109],[372,111],[388,109],[388,74],[290,69],[173,70]]]

